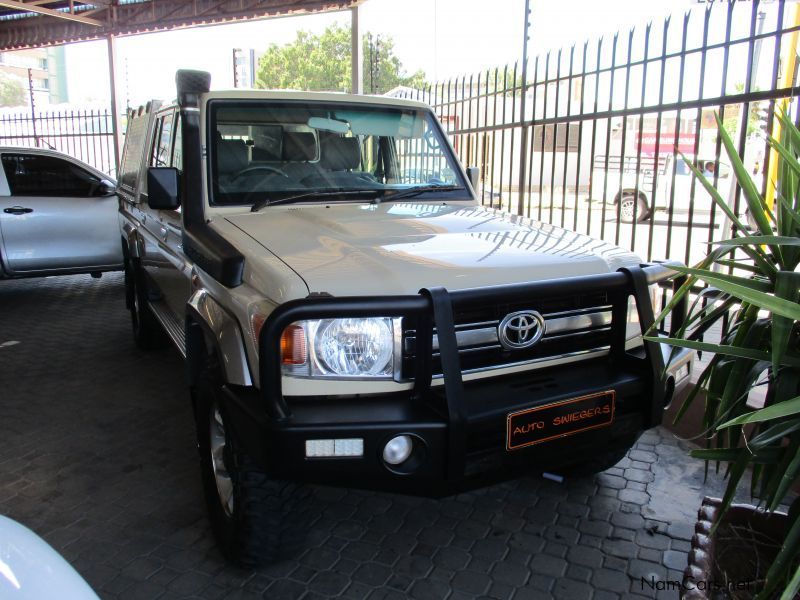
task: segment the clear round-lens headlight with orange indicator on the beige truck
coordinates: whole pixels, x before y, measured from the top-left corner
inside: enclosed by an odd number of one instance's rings
[[[281,338],[283,372],[301,377],[390,379],[394,333],[395,320],[387,317],[293,323]]]

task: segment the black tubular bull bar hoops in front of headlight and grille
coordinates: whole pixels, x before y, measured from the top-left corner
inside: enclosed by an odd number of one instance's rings
[[[635,356],[625,349],[628,298],[633,296],[644,334],[654,322],[649,286],[665,285],[672,280],[677,290],[685,276],[679,276],[669,263],[654,263],[621,268],[613,273],[550,279],[510,285],[448,291],[441,287],[424,288],[415,295],[403,296],[315,296],[292,300],[276,308],[264,323],[259,338],[261,395],[267,414],[272,419],[285,420],[291,415],[281,387],[281,347],[283,331],[290,324],[305,319],[347,317],[413,318],[417,324],[417,347],[414,363],[412,399],[425,402],[429,398],[432,369],[433,328],[436,327],[444,380],[448,446],[452,457],[461,457],[465,440],[464,385],[456,342],[453,314],[455,310],[485,306],[489,303],[518,303],[537,298],[564,296],[601,290],[608,294],[612,305],[611,344],[609,360],[612,365],[633,368],[646,379],[652,390],[650,410],[644,415],[646,427],[661,423],[668,385],[664,355],[660,344],[645,342],[645,356]],[[673,308],[670,329],[675,332],[686,318],[687,299]],[[458,460],[458,459],[457,459]],[[460,466],[451,467],[458,470]]]

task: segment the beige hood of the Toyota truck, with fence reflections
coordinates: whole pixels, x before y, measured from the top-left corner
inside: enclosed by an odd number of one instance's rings
[[[591,275],[635,265],[621,248],[476,205],[294,205],[228,216],[312,293],[416,294]]]

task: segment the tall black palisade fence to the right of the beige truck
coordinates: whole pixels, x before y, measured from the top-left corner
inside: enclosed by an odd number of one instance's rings
[[[535,19],[535,13],[533,15]],[[696,262],[730,223],[680,150],[737,214],[745,203],[721,154],[714,114],[763,189],[764,134],[797,118],[798,7],[714,2],[682,17],[393,95],[433,106],[487,206],[636,251]]]

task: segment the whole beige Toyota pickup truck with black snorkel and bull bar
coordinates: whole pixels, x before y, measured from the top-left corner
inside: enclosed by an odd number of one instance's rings
[[[176,83],[128,119],[127,305],[186,358],[229,559],[279,555],[304,483],[606,469],[688,383],[690,353],[642,339],[675,272],[482,207],[427,105]]]

